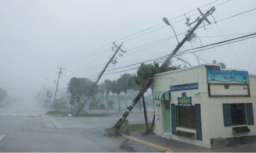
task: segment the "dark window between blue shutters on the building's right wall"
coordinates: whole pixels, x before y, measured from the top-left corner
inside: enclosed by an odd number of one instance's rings
[[[246,104],[230,104],[232,125],[246,125]]]

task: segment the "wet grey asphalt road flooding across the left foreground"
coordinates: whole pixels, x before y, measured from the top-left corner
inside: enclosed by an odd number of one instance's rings
[[[130,152],[119,147],[125,137],[101,134],[118,121],[120,114],[95,118],[37,116],[45,111],[34,106],[0,108],[0,152]],[[143,114],[130,115],[128,119],[144,123]],[[132,140],[129,143],[136,152],[159,152]]]

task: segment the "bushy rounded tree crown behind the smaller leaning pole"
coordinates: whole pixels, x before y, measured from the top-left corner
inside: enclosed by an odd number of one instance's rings
[[[93,96],[94,94],[99,92],[99,86],[95,86],[93,91],[91,93],[90,90],[94,86],[94,82],[90,81],[90,79],[87,78],[72,78],[70,79],[69,83],[67,83],[68,87],[67,89],[72,94],[72,96],[76,96],[77,94],[81,96],[84,94],[91,94]]]

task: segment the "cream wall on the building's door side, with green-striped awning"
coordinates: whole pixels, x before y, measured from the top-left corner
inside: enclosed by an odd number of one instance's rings
[[[158,75],[155,77],[155,93],[161,90],[170,90],[170,86],[172,85],[182,85],[186,83],[196,83],[198,82],[198,90],[182,90],[182,91],[176,91],[171,92],[171,104],[177,105],[177,97],[182,97],[182,93],[186,92],[187,97],[192,97],[191,101],[192,104],[201,104],[201,122],[202,122],[202,141],[200,140],[194,140],[189,139],[186,137],[176,136],[172,135],[172,139],[183,141],[185,143],[190,143],[194,145],[199,145],[202,147],[210,148],[211,145],[209,143],[209,120],[208,120],[208,93],[207,92],[207,73],[205,67],[197,67],[189,70],[179,71],[179,72],[173,72],[169,74],[164,75]],[[158,78],[168,78],[168,79],[158,79]],[[200,95],[198,95],[197,98],[195,98],[194,93],[195,92],[202,92]],[[155,100],[155,103],[160,103],[161,108],[159,109],[161,111],[161,117],[160,119],[157,119],[155,121],[156,123],[156,134],[159,136],[162,136],[162,132],[164,131],[164,116],[162,114],[163,111],[163,103],[161,101]],[[155,109],[157,109],[155,107]],[[157,110],[155,110],[157,112]],[[171,117],[171,116],[170,116]],[[193,132],[195,133],[195,130],[191,129],[184,129],[184,128],[176,128],[176,130],[183,130],[186,132]]]

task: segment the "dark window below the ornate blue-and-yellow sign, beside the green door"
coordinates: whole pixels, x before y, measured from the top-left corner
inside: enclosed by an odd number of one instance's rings
[[[177,105],[177,127],[195,129],[195,106]]]

